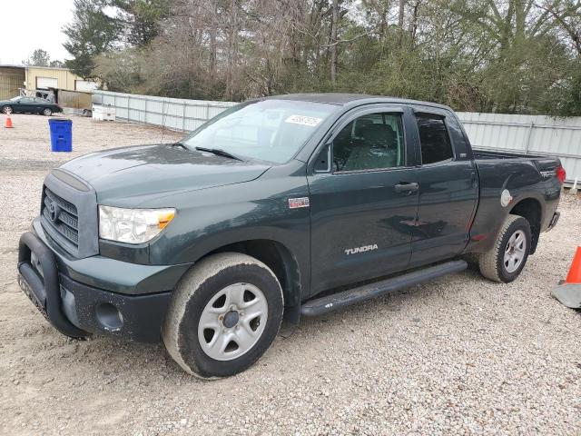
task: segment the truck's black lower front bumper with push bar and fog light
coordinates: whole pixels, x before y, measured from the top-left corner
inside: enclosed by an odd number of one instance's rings
[[[159,342],[172,292],[130,295],[77,282],[59,272],[54,252],[26,232],[18,249],[18,282],[40,312],[73,338],[110,333],[137,342]]]

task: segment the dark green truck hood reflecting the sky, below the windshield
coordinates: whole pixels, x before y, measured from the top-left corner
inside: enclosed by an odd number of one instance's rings
[[[61,166],[93,186],[99,203],[249,182],[269,168],[171,144],[86,154]]]

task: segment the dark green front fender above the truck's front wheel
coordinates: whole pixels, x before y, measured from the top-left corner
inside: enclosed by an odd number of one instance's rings
[[[232,243],[268,240],[280,243],[297,259],[301,287],[308,290],[310,209],[289,207],[290,198],[308,195],[303,173],[164,197],[160,204],[175,204],[177,213],[150,245],[150,263],[195,263]]]

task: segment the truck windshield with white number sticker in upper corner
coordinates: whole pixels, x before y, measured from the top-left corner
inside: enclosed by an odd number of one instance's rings
[[[182,144],[220,149],[242,158],[285,163],[337,106],[292,100],[237,104],[212,118]]]

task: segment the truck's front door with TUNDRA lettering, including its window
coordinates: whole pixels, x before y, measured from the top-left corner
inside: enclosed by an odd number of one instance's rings
[[[403,107],[359,111],[321,152],[330,168],[308,177],[311,295],[408,266],[418,208],[410,122]]]

